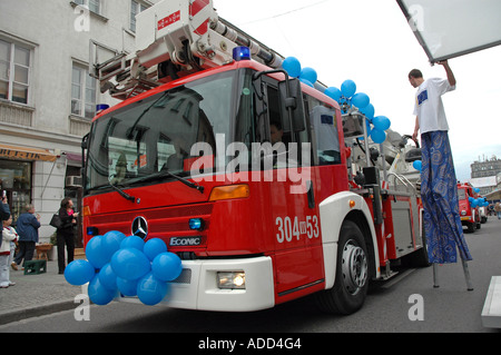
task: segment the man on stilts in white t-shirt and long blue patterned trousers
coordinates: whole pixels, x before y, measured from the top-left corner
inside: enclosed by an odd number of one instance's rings
[[[413,139],[418,138],[421,130],[423,220],[430,263],[434,264],[455,263],[456,245],[464,262],[472,259],[459,214],[456,178],[448,135],[449,125],[441,98],[445,92],[455,90],[456,81],[446,60],[439,61],[439,65],[445,69],[446,79],[424,80],[418,69],[409,73],[409,81],[418,88]]]

